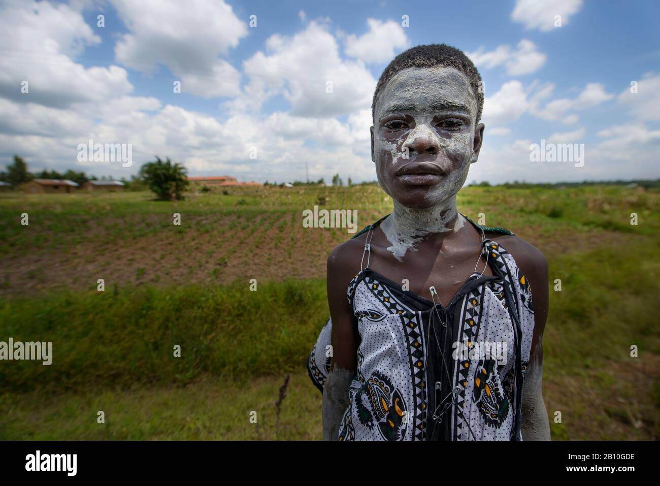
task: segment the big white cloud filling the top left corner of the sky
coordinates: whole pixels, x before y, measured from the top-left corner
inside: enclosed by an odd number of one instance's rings
[[[114,65],[85,68],[71,59],[101,39],[67,5],[5,5],[0,10],[0,31],[0,96],[63,108],[133,90],[125,69]],[[21,92],[23,81],[28,83],[27,93]]]

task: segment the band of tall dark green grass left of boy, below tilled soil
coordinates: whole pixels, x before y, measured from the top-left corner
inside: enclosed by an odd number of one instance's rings
[[[53,363],[5,361],[0,382],[5,391],[64,391],[299,371],[327,313],[321,280],[2,300],[0,340],[53,341]]]

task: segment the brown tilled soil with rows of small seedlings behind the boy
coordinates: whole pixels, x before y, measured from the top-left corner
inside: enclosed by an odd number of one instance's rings
[[[61,243],[29,252],[16,249],[3,255],[0,295],[95,289],[98,279],[104,279],[107,289],[324,278],[330,250],[353,236],[346,228],[304,228],[299,213],[199,215],[180,227],[163,225],[162,217],[145,217],[96,221],[79,244]],[[358,230],[379,218],[378,213],[362,213]],[[136,231],[136,227],[141,229]],[[557,233],[533,227],[517,234],[548,259],[604,245],[622,246],[640,237],[605,230]],[[57,236],[61,235],[44,234],[48,240]]]

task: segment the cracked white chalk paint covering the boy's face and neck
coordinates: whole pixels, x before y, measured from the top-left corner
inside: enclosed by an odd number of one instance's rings
[[[447,131],[445,136],[441,136],[435,125],[438,105],[447,106],[449,112],[459,106],[459,111],[462,109],[464,115],[469,116],[469,127],[462,131]],[[409,108],[392,110],[394,106]],[[380,129],[381,121],[393,113],[414,119],[413,129],[396,141],[385,137]],[[465,183],[470,163],[477,160],[473,152],[476,113],[477,101],[467,77],[449,67],[405,69],[392,77],[379,93],[374,126],[374,161],[383,190],[395,201],[394,211],[381,223],[381,229],[391,244],[387,250],[397,260],[403,260],[409,250],[416,251],[416,243],[428,234],[458,231],[463,227],[465,219],[457,212],[455,196]],[[418,139],[438,147],[438,156],[433,163],[447,176],[441,184],[431,186],[424,195],[429,206],[415,209],[397,201],[397,189],[389,184],[391,172],[388,171],[401,164],[401,160],[414,162],[420,155],[412,148]],[[409,148],[408,158],[404,156],[406,147]],[[391,155],[389,164],[385,154]],[[453,228],[448,228],[454,220]]]

